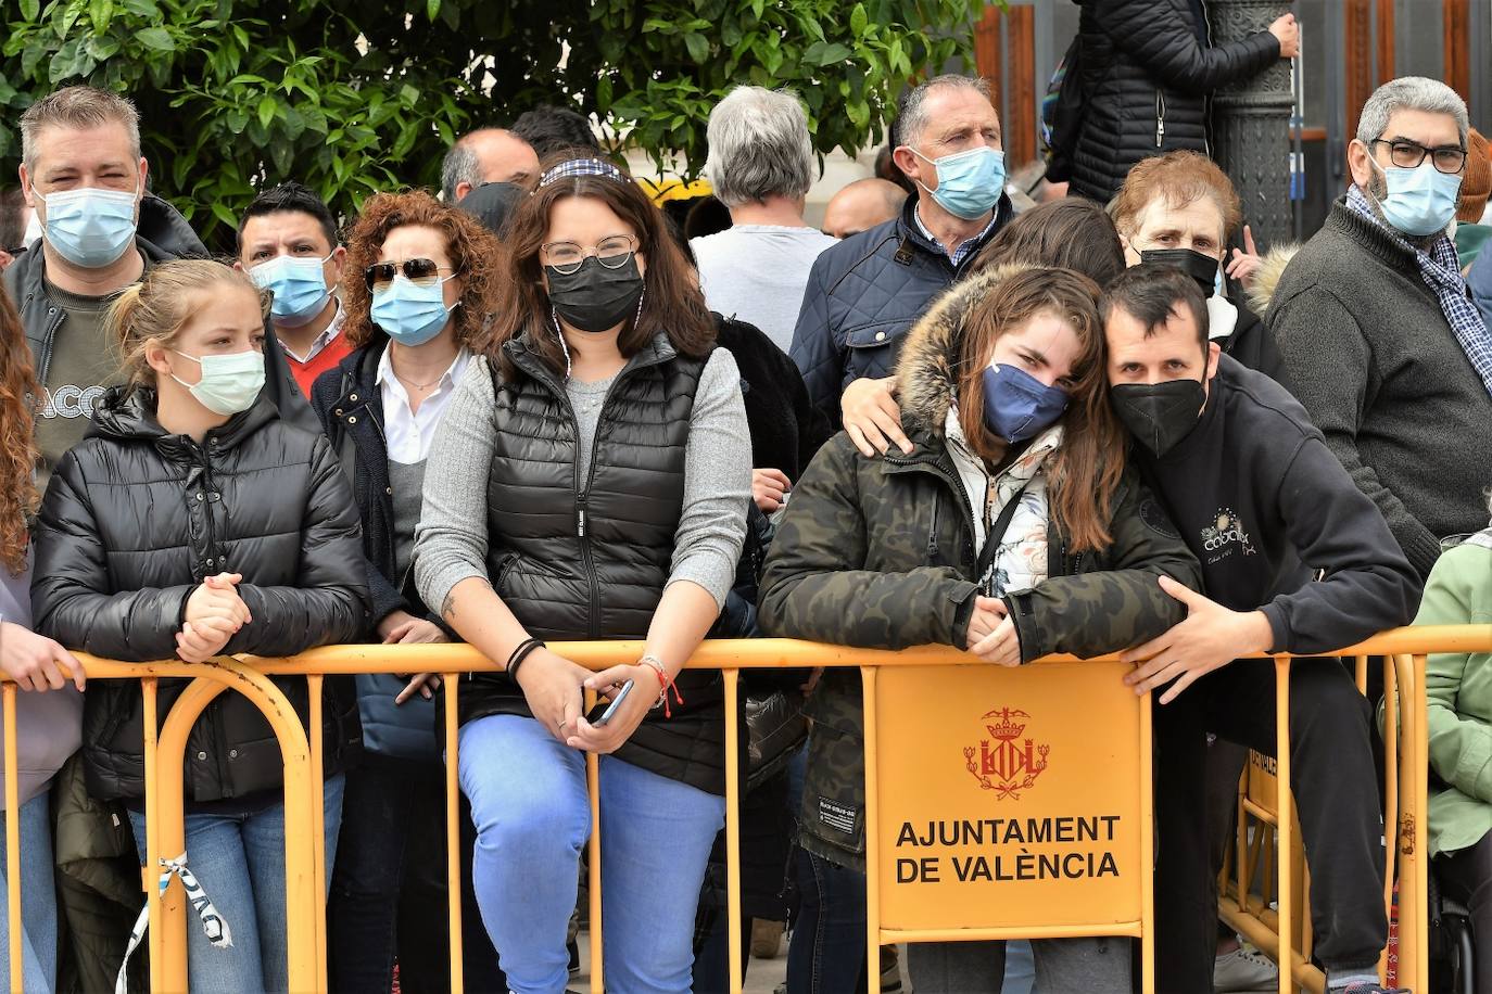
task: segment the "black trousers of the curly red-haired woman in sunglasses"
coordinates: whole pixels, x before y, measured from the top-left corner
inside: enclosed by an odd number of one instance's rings
[[[342,835],[327,908],[331,990],[388,994],[451,990],[446,911],[445,767],[364,753],[348,772]],[[463,797],[463,803],[464,803]],[[471,818],[461,817],[468,835]],[[463,839],[466,990],[507,990],[471,900],[471,841]]]

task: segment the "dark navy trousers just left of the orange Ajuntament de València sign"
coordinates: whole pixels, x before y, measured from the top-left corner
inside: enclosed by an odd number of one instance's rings
[[[797,851],[798,921],[788,945],[788,994],[864,994],[865,875]],[[880,966],[876,966],[880,990]]]

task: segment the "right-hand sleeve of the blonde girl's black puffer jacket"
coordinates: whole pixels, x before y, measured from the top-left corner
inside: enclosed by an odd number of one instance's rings
[[[352,489],[325,435],[312,450],[310,492],[301,522],[298,583],[294,587],[240,584],[254,618],[225,653],[291,656],[363,638],[367,626],[366,559]]]

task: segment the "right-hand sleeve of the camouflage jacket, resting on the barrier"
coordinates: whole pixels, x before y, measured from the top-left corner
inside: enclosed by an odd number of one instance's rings
[[[1186,618],[1162,575],[1201,589],[1201,566],[1138,478],[1126,475],[1109,522],[1101,569],[1052,577],[1004,598],[1021,638],[1021,662],[1053,653],[1088,659],[1131,648]]]

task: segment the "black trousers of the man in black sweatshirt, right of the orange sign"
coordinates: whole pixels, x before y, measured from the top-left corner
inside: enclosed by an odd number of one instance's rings
[[[1212,991],[1217,948],[1207,733],[1274,754],[1274,663],[1240,659],[1168,705],[1159,694],[1153,700],[1156,990],[1198,994]],[[1376,966],[1388,939],[1368,727],[1368,702],[1337,660],[1294,663],[1291,778],[1310,863],[1316,955],[1337,972]]]

